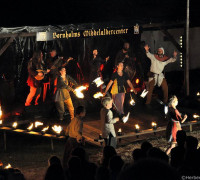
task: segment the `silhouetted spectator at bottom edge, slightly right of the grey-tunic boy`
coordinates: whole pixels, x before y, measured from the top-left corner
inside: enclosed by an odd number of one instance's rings
[[[122,160],[120,156],[113,156],[110,159],[110,163],[109,163],[109,169],[111,171],[110,180],[116,180],[118,178],[118,175],[123,165],[124,165],[124,161]]]

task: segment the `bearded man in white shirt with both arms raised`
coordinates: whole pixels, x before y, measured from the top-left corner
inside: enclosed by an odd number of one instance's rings
[[[169,64],[176,61],[177,58],[177,52],[174,51],[173,57],[168,58],[166,55],[164,55],[164,49],[162,47],[158,48],[157,54],[151,54],[149,52],[149,46],[144,46],[146,50],[147,57],[151,60],[151,67],[149,72],[149,92],[147,94],[147,100],[145,104],[151,103],[151,97],[153,93],[154,86],[157,85],[158,87],[162,87],[163,91],[163,102],[167,103],[168,101],[168,85],[167,81],[164,77],[164,74],[162,73],[164,70],[164,67]]]

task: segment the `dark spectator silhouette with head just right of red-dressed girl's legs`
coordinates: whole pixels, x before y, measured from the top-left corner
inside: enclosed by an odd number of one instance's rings
[[[183,165],[185,155],[186,132],[181,130],[176,134],[177,147],[171,150],[171,166],[178,168]]]

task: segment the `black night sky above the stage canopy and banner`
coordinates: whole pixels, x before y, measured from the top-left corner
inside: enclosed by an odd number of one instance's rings
[[[198,0],[190,0],[190,24],[199,23]],[[7,0],[0,27],[67,25],[136,20],[138,23],[185,21],[186,0]]]

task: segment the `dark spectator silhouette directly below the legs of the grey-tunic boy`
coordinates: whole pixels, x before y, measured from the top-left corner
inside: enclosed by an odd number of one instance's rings
[[[103,148],[103,157],[101,165],[108,168],[110,158],[117,155],[115,148],[112,146],[105,146]]]

